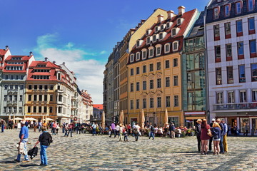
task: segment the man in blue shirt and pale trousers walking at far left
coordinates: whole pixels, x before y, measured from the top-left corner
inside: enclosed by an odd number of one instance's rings
[[[29,129],[28,127],[26,127],[25,125],[25,121],[21,121],[21,130],[19,133],[19,145],[22,144],[22,146],[24,146],[24,161],[22,162],[29,162],[29,156],[28,156],[28,152],[27,152],[27,147],[26,147],[26,143],[28,142],[28,138],[29,138]],[[21,154],[17,155],[17,159],[15,159],[14,161],[16,162],[21,162]]]

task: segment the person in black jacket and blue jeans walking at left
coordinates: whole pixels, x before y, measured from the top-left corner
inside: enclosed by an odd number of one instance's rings
[[[46,127],[42,128],[43,133],[39,135],[39,140],[36,142],[35,146],[40,142],[40,158],[41,158],[41,166],[47,166],[47,155],[46,155],[46,148],[49,147],[49,142],[51,142],[52,138],[51,135],[46,131]]]

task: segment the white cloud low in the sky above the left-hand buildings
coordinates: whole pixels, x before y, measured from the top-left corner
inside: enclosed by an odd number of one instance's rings
[[[106,53],[106,51],[87,52],[84,49],[76,48],[72,42],[57,47],[54,45],[57,39],[57,33],[39,36],[38,45],[34,51],[39,53],[41,57],[48,57],[49,61],[56,61],[57,64],[65,62],[69,70],[76,74],[79,88],[88,90],[95,104],[103,103],[104,64],[94,58]]]

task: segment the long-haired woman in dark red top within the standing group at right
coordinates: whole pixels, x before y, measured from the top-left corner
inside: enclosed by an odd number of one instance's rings
[[[210,136],[208,135],[209,131],[211,131],[210,125],[208,125],[207,120],[204,119],[201,124],[201,154],[202,155],[207,155],[208,140],[210,140]]]

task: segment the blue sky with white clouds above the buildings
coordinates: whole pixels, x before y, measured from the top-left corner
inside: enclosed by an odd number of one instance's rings
[[[1,0],[0,48],[34,52],[76,73],[80,89],[102,103],[104,65],[117,41],[154,9],[202,11],[208,0]]]

